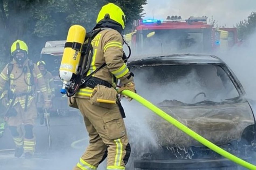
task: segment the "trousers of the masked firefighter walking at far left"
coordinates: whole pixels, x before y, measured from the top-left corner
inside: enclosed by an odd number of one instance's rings
[[[33,154],[36,145],[33,132],[35,119],[37,117],[35,101],[34,99],[31,101],[26,111],[21,107],[20,102],[15,104],[13,108],[16,110],[17,115],[11,116],[7,120],[13,141],[16,147],[23,147],[24,153],[29,152]]]

